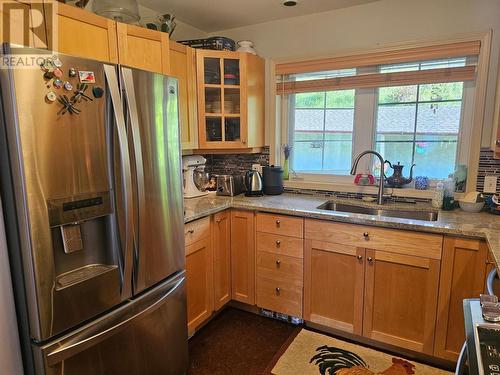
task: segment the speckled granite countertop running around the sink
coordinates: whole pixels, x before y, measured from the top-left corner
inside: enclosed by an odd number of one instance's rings
[[[309,196],[305,194],[282,194],[263,197],[246,197],[244,195],[222,197],[211,193],[201,198],[184,200],[184,220],[187,223],[227,208],[237,208],[344,223],[481,238],[487,241],[495,259],[497,269],[500,271],[500,217],[496,215],[486,212],[474,214],[456,209],[455,211],[440,211],[437,221],[422,221],[325,211],[317,208],[327,200],[333,199],[320,195]],[[340,199],[338,201],[346,202],[346,200]],[[365,203],[361,200],[349,200],[348,202],[356,205],[376,206],[376,204]],[[387,203],[384,204],[384,208],[429,210],[431,207],[427,203]]]

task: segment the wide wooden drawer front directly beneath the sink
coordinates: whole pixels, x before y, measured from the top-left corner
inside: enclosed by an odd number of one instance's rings
[[[306,220],[306,239],[441,259],[443,236],[355,224]]]

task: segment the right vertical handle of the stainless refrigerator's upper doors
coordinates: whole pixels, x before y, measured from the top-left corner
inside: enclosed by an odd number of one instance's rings
[[[130,128],[132,133],[132,145],[134,149],[134,160],[135,160],[135,170],[136,170],[136,183],[137,183],[137,195],[138,195],[138,226],[136,230],[136,254],[135,266],[137,269],[135,270],[134,277],[134,287],[137,288],[138,278],[140,277],[140,235],[143,233],[141,230],[141,226],[145,223],[145,200],[146,200],[146,192],[144,187],[144,164],[142,159],[142,146],[141,146],[141,133],[139,130],[139,116],[137,113],[137,100],[135,98],[135,90],[134,90],[134,79],[132,76],[132,70],[130,68],[121,67],[123,84],[125,87],[125,96],[127,103],[128,116],[130,118]]]

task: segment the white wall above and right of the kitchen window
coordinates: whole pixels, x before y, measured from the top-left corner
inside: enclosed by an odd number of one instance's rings
[[[500,51],[500,0],[381,0],[212,35],[249,39],[270,59],[320,57],[384,44],[493,30],[482,145],[490,145]]]

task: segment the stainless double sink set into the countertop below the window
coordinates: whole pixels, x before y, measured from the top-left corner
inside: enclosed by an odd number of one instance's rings
[[[328,201],[317,207],[320,210],[349,212],[353,214],[375,215],[385,217],[397,217],[409,220],[436,221],[438,212],[433,210],[408,210],[398,208],[382,208],[356,206],[354,204]]]

